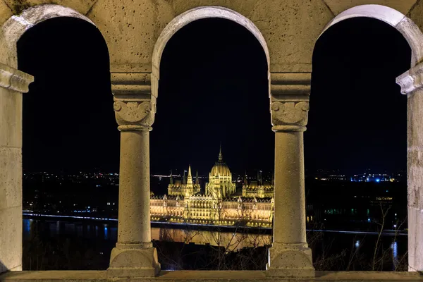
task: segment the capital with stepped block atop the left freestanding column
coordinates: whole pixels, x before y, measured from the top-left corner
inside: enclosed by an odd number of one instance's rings
[[[152,130],[157,95],[150,73],[111,73],[111,90],[118,130]]]

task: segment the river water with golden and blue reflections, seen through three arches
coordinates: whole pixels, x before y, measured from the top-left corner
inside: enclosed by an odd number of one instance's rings
[[[193,253],[197,252],[197,249],[195,249],[197,245],[211,245],[214,246],[214,250],[216,250],[215,246],[223,246],[226,252],[242,252],[244,247],[271,245],[271,235],[269,234],[246,234],[157,227],[152,227],[151,231],[152,240],[156,241],[154,244],[167,248],[178,248],[179,246],[180,250],[189,249],[192,250]],[[46,245],[57,244],[59,247],[61,247],[66,240],[70,240],[75,244],[74,247],[81,247],[81,250],[79,250],[80,252],[85,252],[83,248],[90,246],[95,253],[102,256],[104,259],[104,267],[106,268],[108,267],[111,249],[115,246],[118,238],[118,228],[114,223],[104,224],[95,221],[70,222],[24,219],[24,240],[27,243],[30,242],[33,235],[37,235],[39,240],[43,240]],[[310,241],[309,246],[312,247],[313,254],[315,254],[316,257],[319,257],[322,252],[328,252],[329,249],[330,254],[325,253],[326,255],[337,255],[342,253],[343,250],[350,250],[353,252],[353,255],[357,255],[357,258],[367,259],[358,262],[357,265],[368,265],[369,259],[373,257],[375,240],[377,240],[377,238],[378,236],[371,234],[322,233],[316,242],[312,243]],[[392,256],[389,256],[391,257],[391,262],[388,262],[386,266],[384,264],[384,269],[389,271],[402,267],[404,264],[403,255],[405,254],[401,252],[407,251],[406,237],[396,238],[394,242],[392,242],[392,239],[393,238],[390,236],[381,237],[381,250],[389,250],[392,254]],[[166,245],[165,241],[185,244],[194,243],[195,245],[181,247],[181,245],[177,244]],[[350,255],[347,253],[347,257],[349,256]],[[167,266],[171,267],[170,264]]]

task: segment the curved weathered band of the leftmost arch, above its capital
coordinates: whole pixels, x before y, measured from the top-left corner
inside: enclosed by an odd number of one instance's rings
[[[18,56],[16,44],[20,37],[34,25],[42,23],[44,20],[59,17],[79,18],[97,27],[92,20],[72,8],[56,4],[32,6],[25,9],[19,16],[11,16],[2,25],[0,31],[0,62],[17,68]]]

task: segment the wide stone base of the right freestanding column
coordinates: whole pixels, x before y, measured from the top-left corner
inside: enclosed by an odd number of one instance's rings
[[[266,276],[314,277],[312,250],[307,247],[307,243],[273,243],[269,249]]]

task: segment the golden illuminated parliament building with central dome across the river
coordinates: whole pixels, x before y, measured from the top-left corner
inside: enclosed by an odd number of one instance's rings
[[[250,181],[250,184],[245,177],[243,195],[237,195],[232,173],[220,150],[204,194],[200,192],[198,173],[194,181],[191,166],[188,166],[188,177],[184,173],[182,181],[174,181],[171,175],[168,195],[152,195],[150,212],[152,221],[221,226],[243,223],[246,226],[270,227],[274,213],[273,195],[273,183],[263,183],[261,177]]]

